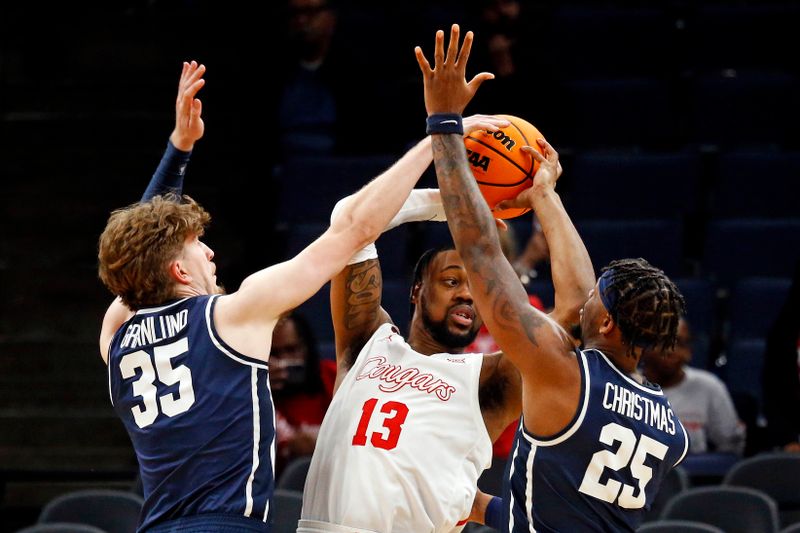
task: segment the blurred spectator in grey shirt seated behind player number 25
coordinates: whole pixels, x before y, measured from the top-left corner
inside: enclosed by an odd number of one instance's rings
[[[689,453],[744,451],[746,429],[725,384],[714,374],[688,366],[692,360],[689,324],[681,319],[675,349],[645,350],[642,371],[664,390],[689,434]]]

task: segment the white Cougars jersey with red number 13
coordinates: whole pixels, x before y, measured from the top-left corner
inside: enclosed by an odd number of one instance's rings
[[[492,460],[482,360],[422,355],[378,328],[322,422],[298,531],[460,531]]]

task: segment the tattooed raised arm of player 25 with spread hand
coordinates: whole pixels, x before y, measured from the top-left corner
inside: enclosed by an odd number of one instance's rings
[[[462,101],[468,101],[464,65],[459,62],[468,57],[472,36],[467,34],[460,56],[458,37],[458,27],[453,26],[445,56],[444,34],[437,33],[434,69],[416,50],[429,124],[436,124],[441,114],[460,114]],[[500,250],[493,217],[469,170],[460,136],[435,133],[433,154],[448,225],[467,268],[475,303],[497,344],[522,375],[526,426],[538,435],[554,434],[574,415],[580,392],[571,338],[557,322],[529,305],[519,278]],[[555,170],[557,154],[553,152],[548,161]],[[531,390],[536,394],[527,393]]]

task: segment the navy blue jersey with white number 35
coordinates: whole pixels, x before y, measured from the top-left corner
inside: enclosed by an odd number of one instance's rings
[[[144,486],[140,531],[209,513],[250,517],[268,531],[275,412],[267,365],[219,338],[216,301],[142,309],[111,342],[111,401]]]

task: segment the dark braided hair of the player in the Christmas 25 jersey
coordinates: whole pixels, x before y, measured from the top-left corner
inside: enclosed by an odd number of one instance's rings
[[[629,354],[635,346],[672,350],[678,322],[686,312],[678,287],[642,258],[612,261],[603,268],[606,272],[610,279],[604,293],[616,296],[608,311],[629,345]]]

